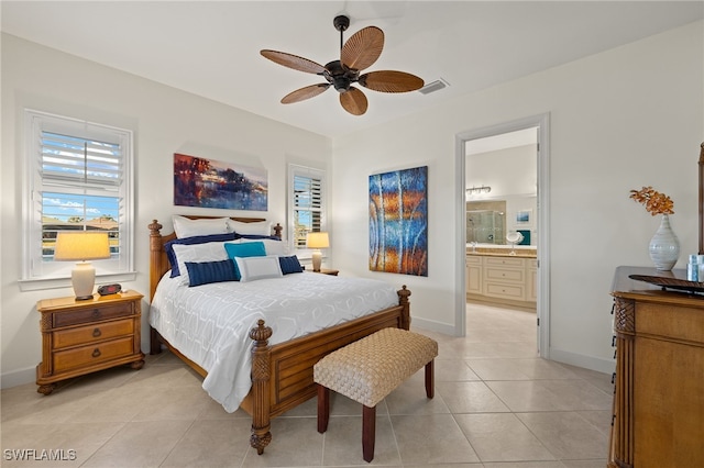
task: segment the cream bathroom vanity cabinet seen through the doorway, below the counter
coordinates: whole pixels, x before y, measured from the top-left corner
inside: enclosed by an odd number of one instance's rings
[[[466,298],[532,309],[537,260],[509,255],[466,255]]]

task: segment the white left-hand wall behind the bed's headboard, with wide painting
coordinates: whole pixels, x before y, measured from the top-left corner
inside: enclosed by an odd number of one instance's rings
[[[201,152],[213,159],[268,170],[266,216],[286,225],[286,161],[327,168],[329,138],[117,71],[55,49],[2,35],[2,171],[0,305],[2,386],[34,380],[41,360],[36,301],[70,296],[70,288],[21,292],[22,135],[24,107],[113,124],[134,131],[136,175],[136,280],[124,288],[148,294],[148,230],[158,219],[172,232],[173,213],[216,214],[173,205],[173,154]],[[142,302],[142,348],[147,300]]]

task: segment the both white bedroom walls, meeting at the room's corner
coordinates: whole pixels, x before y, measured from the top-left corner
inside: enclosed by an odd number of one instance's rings
[[[673,198],[671,221],[682,244],[679,266],[685,254],[697,248],[695,169],[704,140],[703,24],[472,93],[332,144],[319,135],[2,35],[2,386],[34,380],[34,367],[41,360],[36,301],[72,293],[68,288],[20,292],[16,285],[25,105],[135,130],[138,279],[127,288],[147,291],[150,221],[186,211],[172,202],[174,152],[210,146],[218,148],[219,156],[258,158],[270,171],[266,215],[280,222],[285,222],[285,161],[324,167],[334,155],[328,167],[332,266],[349,276],[408,285],[415,324],[449,333],[454,323],[457,263],[463,265],[454,252],[461,223],[455,219],[455,135],[550,112],[550,354],[608,371],[613,353],[608,291],[614,268],[649,265],[647,245],[658,226],[658,220],[628,199],[628,190],[652,185]],[[429,276],[371,272],[369,176],[422,165],[429,167]]]

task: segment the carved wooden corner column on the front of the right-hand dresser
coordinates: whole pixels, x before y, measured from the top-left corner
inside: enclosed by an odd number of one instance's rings
[[[616,389],[612,432],[613,453],[609,467],[632,467],[634,464],[634,346],[636,337],[636,302],[615,298]]]

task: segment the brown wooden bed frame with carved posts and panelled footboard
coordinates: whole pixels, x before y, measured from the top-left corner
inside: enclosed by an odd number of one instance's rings
[[[208,219],[216,216],[193,216]],[[232,218],[240,222],[265,221],[262,218]],[[150,229],[150,301],[154,298],[156,285],[170,265],[164,250],[164,244],[176,238],[175,234],[162,235],[162,225],[154,220]],[[282,227],[274,227],[280,238]],[[262,455],[264,447],[272,441],[271,420],[297,406],[316,395],[312,381],[312,366],[327,354],[345,346],[381,328],[397,327],[409,330],[410,291],[404,285],[398,293],[398,305],[384,309],[371,315],[336,325],[296,339],[268,345],[272,328],[263,320],[250,331],[252,345],[252,389],[240,405],[252,416],[250,445]],[[183,359],[200,376],[207,371],[184,356],[167,343],[156,330],[150,326],[151,354],[158,354],[164,344],[172,353]]]

